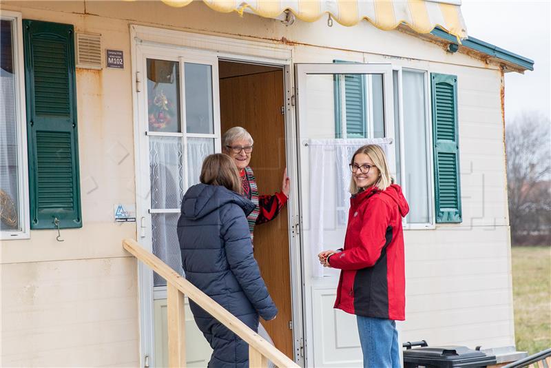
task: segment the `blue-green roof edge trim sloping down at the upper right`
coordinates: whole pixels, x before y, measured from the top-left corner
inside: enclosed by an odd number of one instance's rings
[[[435,28],[430,32],[430,34],[433,34],[433,36],[435,37],[445,39],[450,43],[455,43],[456,45],[458,45],[457,38],[452,34],[446,32],[445,30],[442,30],[441,28]],[[496,45],[492,45],[491,43],[476,39],[475,37],[468,37],[464,40],[461,40],[461,46],[470,48],[478,52],[482,52],[490,57],[495,57],[508,63],[512,63],[514,65],[517,65],[517,67],[522,70],[534,70],[534,61],[532,59],[522,57],[519,54],[514,54],[513,52],[499,48]]]

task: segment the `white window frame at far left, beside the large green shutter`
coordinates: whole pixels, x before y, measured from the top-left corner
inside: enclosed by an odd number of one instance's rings
[[[16,240],[30,238],[29,178],[27,157],[27,115],[25,106],[25,59],[23,58],[23,22],[21,12],[2,10],[2,20],[12,21],[12,47],[15,76],[15,113],[17,119],[17,165],[19,169],[19,231],[0,232],[0,239]]]

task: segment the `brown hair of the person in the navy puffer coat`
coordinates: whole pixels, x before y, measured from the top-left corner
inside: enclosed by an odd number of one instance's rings
[[[243,188],[236,164],[225,154],[211,154],[202,161],[201,176],[203,184],[220,185],[233,192],[242,194]]]

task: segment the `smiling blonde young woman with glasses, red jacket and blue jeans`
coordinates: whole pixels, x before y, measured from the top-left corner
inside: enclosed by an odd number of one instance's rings
[[[399,368],[395,320],[404,320],[402,217],[409,211],[392,183],[383,150],[364,145],[350,163],[351,207],[344,248],[318,254],[325,267],[341,269],[335,308],[355,314],[364,367]]]

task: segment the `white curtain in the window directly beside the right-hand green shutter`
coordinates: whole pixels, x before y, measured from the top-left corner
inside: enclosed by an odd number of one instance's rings
[[[408,223],[428,223],[429,185],[426,137],[425,74],[402,72],[404,104],[405,194],[409,201]]]

